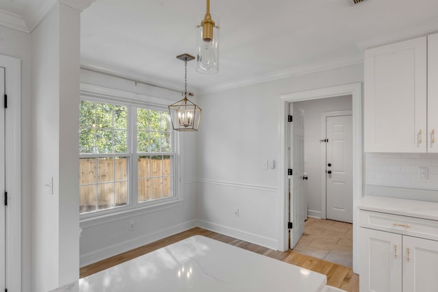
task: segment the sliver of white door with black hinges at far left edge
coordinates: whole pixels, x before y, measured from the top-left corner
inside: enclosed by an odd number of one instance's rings
[[[0,94],[5,94],[5,68],[0,67]],[[5,109],[0,109],[0,194],[5,190]],[[2,197],[3,198],[3,197]],[[5,289],[5,204],[0,200],[0,289]]]

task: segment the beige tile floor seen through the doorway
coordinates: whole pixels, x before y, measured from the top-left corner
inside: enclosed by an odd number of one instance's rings
[[[352,267],[352,224],[309,217],[294,252]]]

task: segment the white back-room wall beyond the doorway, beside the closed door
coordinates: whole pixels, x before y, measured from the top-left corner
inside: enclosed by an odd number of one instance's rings
[[[321,114],[329,111],[345,111],[352,109],[351,96],[338,96],[332,98],[322,98],[313,101],[300,101],[294,103],[294,106],[304,109],[304,146],[305,146],[305,172],[309,178],[305,181],[307,187],[307,209],[308,215],[312,217],[321,217],[321,190],[322,168],[321,160],[321,142],[326,136],[325,131],[321,129]],[[352,163],[352,161],[351,161]]]

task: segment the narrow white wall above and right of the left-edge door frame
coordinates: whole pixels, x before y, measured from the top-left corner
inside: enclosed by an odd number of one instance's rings
[[[21,289],[30,290],[31,274],[31,38],[0,25],[0,55],[21,59]]]

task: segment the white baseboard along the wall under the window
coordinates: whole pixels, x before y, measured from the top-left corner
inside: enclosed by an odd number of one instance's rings
[[[84,267],[86,265],[102,261],[105,258],[115,256],[116,254],[121,254],[123,252],[127,252],[128,250],[133,250],[134,248],[139,248],[142,245],[152,243],[159,239],[176,235],[177,233],[181,233],[185,230],[196,227],[196,221],[197,220],[190,220],[188,222],[178,224],[177,226],[159,230],[155,233],[142,235],[141,237],[136,237],[128,241],[110,245],[106,248],[102,248],[101,250],[95,250],[94,252],[89,252],[88,254],[82,254],[79,256],[79,266]]]

